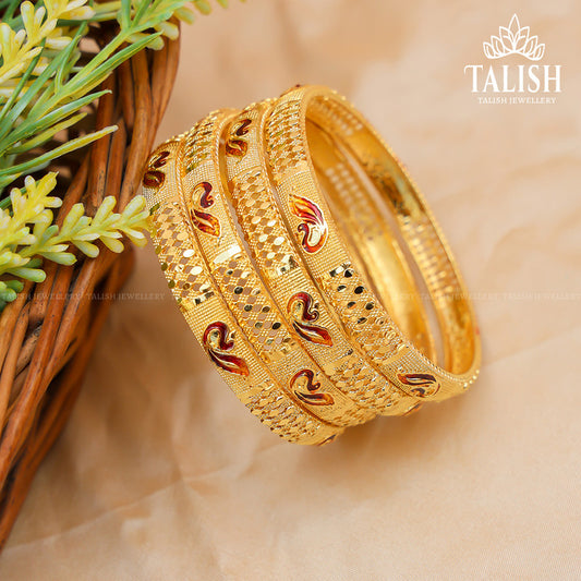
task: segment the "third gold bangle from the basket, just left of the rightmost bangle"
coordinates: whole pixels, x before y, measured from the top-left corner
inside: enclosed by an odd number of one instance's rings
[[[409,412],[417,399],[368,365],[328,307],[287,230],[261,148],[269,107],[265,101],[235,116],[226,128],[221,152],[227,191],[257,268],[302,347],[341,391],[386,415]],[[398,280],[408,282],[400,292],[413,290],[412,280],[403,275]]]

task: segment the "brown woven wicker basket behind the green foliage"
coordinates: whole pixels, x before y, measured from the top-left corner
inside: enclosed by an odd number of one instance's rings
[[[101,44],[110,34],[98,27],[93,37]],[[135,195],[178,57],[179,43],[166,41],[160,51],[135,55],[105,82],[112,93],[99,100],[82,130],[113,123],[119,130],[51,168],[59,171],[63,198],[57,222],[76,202],[94,214],[107,195],[118,197],[118,210]],[[73,267],[46,265],[46,280],[28,285],[0,316],[0,547],[71,413],[111,300],[131,271],[133,252],[125,249],[113,254],[101,245],[97,258],[80,255]]]

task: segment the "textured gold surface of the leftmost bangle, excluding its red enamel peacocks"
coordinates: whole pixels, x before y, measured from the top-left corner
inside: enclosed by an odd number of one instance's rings
[[[144,193],[153,208],[152,235],[156,253],[183,316],[204,348],[204,331],[209,322],[223,322],[232,331],[232,354],[247,364],[250,375],[235,375],[219,366],[217,370],[261,422],[289,441],[323,444],[339,434],[341,428],[320,422],[298,406],[279,387],[271,372],[244,340],[209,275],[189,225],[179,186],[173,179],[178,146],[165,144],[162,148],[170,152],[164,168],[165,183],[157,190],[145,187]]]

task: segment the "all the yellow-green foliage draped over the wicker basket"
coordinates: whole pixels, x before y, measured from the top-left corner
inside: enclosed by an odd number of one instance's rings
[[[143,198],[121,214],[112,211],[114,198],[106,198],[93,219],[76,204],[59,229],[51,208],[61,201],[50,195],[56,174],[35,181],[29,173],[114,131],[111,125],[60,145],[51,141],[83,120],[117,66],[140,50],[161,48],[164,37],[175,38],[174,21],[193,22],[192,9],[207,14],[210,8],[207,0],[0,0],[0,308],[15,299],[23,279],[44,279],[43,259],[72,264],[71,244],[96,256],[96,240],[113,252],[123,249],[122,235],[145,241]],[[105,21],[117,21],[118,33],[80,64],[89,25]],[[7,194],[23,175],[23,191]]]

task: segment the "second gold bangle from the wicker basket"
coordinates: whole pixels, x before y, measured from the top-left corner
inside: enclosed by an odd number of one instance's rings
[[[178,160],[185,206],[211,276],[246,340],[298,403],[332,425],[364,423],[377,412],[341,392],[301,348],[238,233],[220,171],[220,137],[231,117],[216,112],[204,119],[185,135]]]

